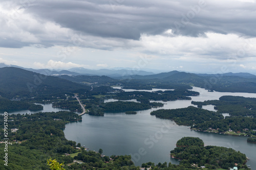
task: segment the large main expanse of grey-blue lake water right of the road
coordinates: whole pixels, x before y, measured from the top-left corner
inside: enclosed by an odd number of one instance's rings
[[[198,87],[193,87],[193,90],[200,92],[200,95],[191,96],[192,100],[201,102],[218,100],[223,95],[256,97],[255,93],[208,92]],[[81,143],[90,150],[98,151],[101,148],[103,155],[132,155],[136,165],[149,161],[178,164],[179,161],[169,155],[176,147],[177,140],[184,136],[199,137],[205,145],[232,148],[246,154],[250,158],[247,165],[256,169],[256,144],[247,143],[247,137],[191,131],[189,127],[178,126],[172,120],[150,115],[150,112],[157,109],[193,106],[191,101],[186,100],[162,103],[166,104],[160,108],[138,111],[136,115],[127,115],[124,112],[105,113],[102,117],[84,114],[82,122],[67,124],[64,133],[68,140]],[[214,110],[214,106],[206,107]]]

